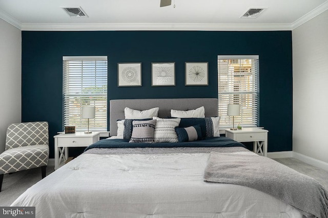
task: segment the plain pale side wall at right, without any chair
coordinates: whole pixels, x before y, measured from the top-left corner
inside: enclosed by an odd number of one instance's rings
[[[292,34],[293,151],[328,163],[328,10]]]

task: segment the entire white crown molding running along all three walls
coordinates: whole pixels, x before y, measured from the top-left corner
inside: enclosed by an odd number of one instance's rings
[[[328,9],[328,1],[288,23],[22,23],[0,9],[0,18],[22,31],[291,31]]]

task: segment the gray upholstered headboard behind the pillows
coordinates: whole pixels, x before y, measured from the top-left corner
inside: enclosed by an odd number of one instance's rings
[[[147,110],[159,107],[158,117],[166,118],[171,115],[171,109],[193,110],[204,106],[205,116],[218,115],[217,99],[119,99],[109,102],[109,122],[110,136],[117,134],[118,119],[124,119],[124,108],[129,107],[135,110]]]

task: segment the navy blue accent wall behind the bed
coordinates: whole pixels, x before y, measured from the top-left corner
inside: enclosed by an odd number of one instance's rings
[[[22,120],[62,127],[63,56],[108,56],[108,99],[217,98],[217,55],[259,55],[259,126],[269,152],[292,150],[291,31],[22,31]],[[209,86],[185,86],[185,62],[209,62]],[[141,62],[142,87],[117,87],[117,63]],[[151,62],[175,62],[176,86],[152,87]]]

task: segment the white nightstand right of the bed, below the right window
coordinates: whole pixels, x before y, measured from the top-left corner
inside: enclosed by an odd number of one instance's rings
[[[226,137],[239,142],[253,141],[254,153],[267,157],[268,130],[259,128],[242,128],[241,130],[226,129]]]

